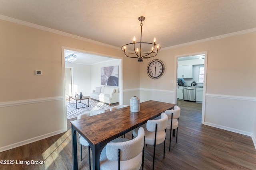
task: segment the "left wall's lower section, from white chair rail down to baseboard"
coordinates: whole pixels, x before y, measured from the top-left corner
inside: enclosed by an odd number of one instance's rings
[[[0,152],[65,132],[63,105],[63,96],[0,102]]]

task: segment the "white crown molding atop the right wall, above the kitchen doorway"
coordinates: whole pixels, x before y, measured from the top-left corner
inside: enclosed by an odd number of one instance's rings
[[[189,42],[189,43],[173,45],[173,46],[170,46],[170,47],[161,48],[161,50],[163,51],[163,50],[174,49],[174,48],[178,48],[178,47],[184,47],[184,46],[187,46],[187,45],[193,45],[193,44],[197,44],[197,43],[203,43],[203,42],[206,42],[206,41],[212,41],[212,40],[216,40],[216,39],[232,37],[232,36],[235,36],[235,35],[251,33],[251,32],[254,32],[254,31],[256,31],[256,28],[246,29],[246,30],[243,30],[243,31],[237,31],[237,32],[234,32],[234,33],[228,33],[228,34],[219,35],[219,36],[216,36],[216,37],[210,37],[210,38],[206,38],[206,39],[200,39],[200,40],[192,41],[192,42]]]

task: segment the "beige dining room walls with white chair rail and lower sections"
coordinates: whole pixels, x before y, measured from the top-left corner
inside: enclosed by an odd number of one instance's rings
[[[0,151],[66,130],[62,46],[122,58],[124,104],[131,96],[174,103],[175,56],[208,51],[205,124],[255,139],[255,44],[256,32],[252,32],[162,49],[155,59],[161,59],[166,70],[153,80],[146,73],[150,59],[137,63],[120,49],[0,20],[0,128],[8,127],[0,132]],[[42,76],[34,75],[37,69]]]

